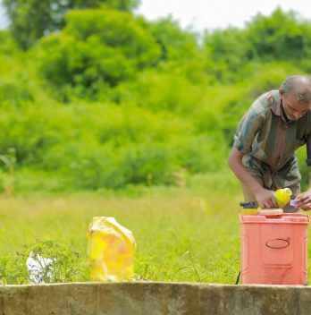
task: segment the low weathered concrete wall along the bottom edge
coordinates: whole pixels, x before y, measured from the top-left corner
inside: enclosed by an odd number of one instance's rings
[[[157,282],[2,285],[0,314],[310,315],[311,287]]]

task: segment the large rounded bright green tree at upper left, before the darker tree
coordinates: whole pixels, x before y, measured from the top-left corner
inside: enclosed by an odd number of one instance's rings
[[[141,18],[115,10],[72,10],[66,27],[40,40],[41,71],[59,89],[96,98],[155,64],[160,47]],[[143,23],[143,24],[142,24]]]

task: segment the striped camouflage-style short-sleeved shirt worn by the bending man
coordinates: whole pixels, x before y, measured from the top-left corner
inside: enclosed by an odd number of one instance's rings
[[[266,188],[273,183],[287,187],[301,179],[295,151],[309,134],[311,109],[298,121],[289,121],[279,91],[271,90],[257,98],[243,116],[233,146],[244,154],[244,166],[260,172]]]

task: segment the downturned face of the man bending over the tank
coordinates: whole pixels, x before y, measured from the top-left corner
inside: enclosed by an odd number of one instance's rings
[[[284,95],[282,93],[281,99],[284,112],[290,121],[297,121],[311,108],[310,104],[299,104],[297,97],[292,94]]]

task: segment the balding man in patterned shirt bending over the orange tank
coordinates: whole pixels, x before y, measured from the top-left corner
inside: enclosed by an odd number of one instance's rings
[[[296,149],[311,137],[311,79],[288,77],[279,90],[256,99],[241,119],[228,160],[245,201],[278,208],[273,191],[289,187],[296,205],[284,212],[311,209],[311,186],[300,192]],[[310,157],[308,157],[310,158]]]

